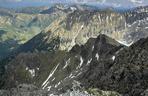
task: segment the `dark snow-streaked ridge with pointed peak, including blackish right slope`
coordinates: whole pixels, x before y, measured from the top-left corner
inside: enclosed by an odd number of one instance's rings
[[[126,47],[100,35],[84,45],[75,45],[69,52],[22,53],[7,66],[4,85],[35,84],[48,94],[61,94],[76,83],[87,91],[98,88],[146,96],[147,40]]]

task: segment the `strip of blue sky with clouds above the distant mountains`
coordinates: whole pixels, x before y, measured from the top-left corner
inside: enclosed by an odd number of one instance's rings
[[[148,5],[147,0],[1,0],[0,6],[16,8],[29,6],[47,6],[55,3],[91,4],[111,7],[137,7]]]

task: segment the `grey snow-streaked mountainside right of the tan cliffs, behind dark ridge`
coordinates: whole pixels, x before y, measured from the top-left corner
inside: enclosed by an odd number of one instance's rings
[[[127,40],[132,42],[148,36],[148,6],[127,11],[125,18],[129,29],[129,32],[125,35]]]

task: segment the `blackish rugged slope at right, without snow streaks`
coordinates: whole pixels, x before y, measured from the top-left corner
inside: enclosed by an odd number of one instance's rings
[[[148,87],[147,40],[141,39],[129,48],[122,49],[106,75],[94,85],[104,89],[115,89],[130,96],[140,96]]]

